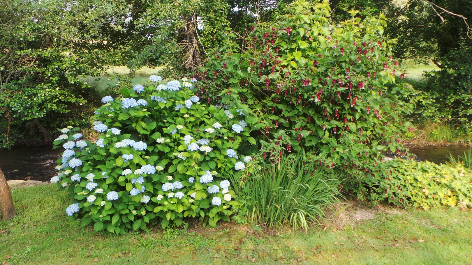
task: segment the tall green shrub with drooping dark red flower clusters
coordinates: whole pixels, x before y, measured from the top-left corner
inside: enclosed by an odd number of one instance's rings
[[[213,51],[194,75],[199,96],[257,110],[264,159],[304,149],[362,195],[383,178],[385,152],[406,154],[411,124],[401,116],[413,108],[403,100],[413,89],[395,82],[401,70],[382,36],[383,15],[361,21],[353,13],[330,25],[327,2],[294,8],[276,24],[251,26],[242,45]]]

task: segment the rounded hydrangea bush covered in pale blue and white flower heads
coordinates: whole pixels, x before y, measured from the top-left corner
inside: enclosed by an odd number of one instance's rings
[[[51,182],[74,199],[67,215],[115,233],[144,229],[156,217],[162,227],[184,217],[229,221],[239,202],[226,178],[253,170],[238,149],[255,143],[249,132],[257,118],[202,103],[185,78],[149,79],[121,91],[122,99],[102,99],[96,142],[81,140],[80,128],[60,130],[54,145],[65,151]]]

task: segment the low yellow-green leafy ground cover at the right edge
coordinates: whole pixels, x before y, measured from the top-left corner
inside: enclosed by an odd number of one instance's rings
[[[472,172],[460,165],[436,165],[395,159],[387,162],[391,173],[371,184],[369,200],[396,206],[472,207]]]

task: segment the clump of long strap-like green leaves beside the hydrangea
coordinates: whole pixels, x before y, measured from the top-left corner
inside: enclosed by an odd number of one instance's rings
[[[338,176],[315,170],[313,160],[296,154],[282,157],[277,164],[262,168],[246,178],[238,193],[246,197],[249,220],[268,228],[287,224],[293,230],[318,223],[326,210],[339,202]]]

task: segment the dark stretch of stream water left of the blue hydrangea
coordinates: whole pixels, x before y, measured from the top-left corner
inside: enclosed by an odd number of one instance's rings
[[[0,168],[7,180],[50,181],[56,174],[56,160],[63,148],[52,146],[14,146],[0,149]]]

